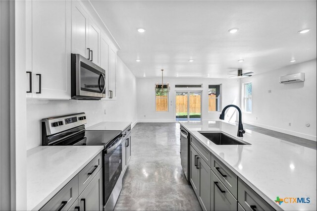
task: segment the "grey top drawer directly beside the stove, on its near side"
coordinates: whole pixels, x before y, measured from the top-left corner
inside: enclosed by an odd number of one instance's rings
[[[100,153],[96,158],[94,158],[90,163],[86,165],[78,174],[78,189],[79,194],[83,192],[86,186],[90,183],[90,181],[94,178],[97,172],[102,168],[102,160],[103,156]]]

